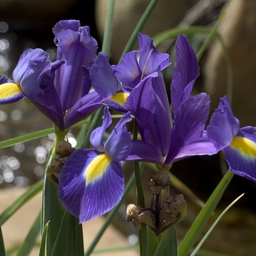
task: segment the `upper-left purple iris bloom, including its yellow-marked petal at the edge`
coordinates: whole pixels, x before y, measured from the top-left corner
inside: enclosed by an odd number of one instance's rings
[[[81,27],[78,20],[61,20],[53,33],[57,61],[50,63],[48,53],[41,49],[26,50],[12,73],[13,80],[0,80],[0,104],[27,97],[64,131],[102,105],[95,91],[88,94],[91,85],[83,72],[83,66],[97,56],[97,42],[89,27]]]

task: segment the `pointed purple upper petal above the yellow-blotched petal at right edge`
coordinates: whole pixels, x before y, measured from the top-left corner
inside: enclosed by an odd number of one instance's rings
[[[230,145],[239,130],[239,121],[233,115],[227,97],[220,99],[219,107],[211,116],[207,127],[207,136],[217,150],[222,150]]]

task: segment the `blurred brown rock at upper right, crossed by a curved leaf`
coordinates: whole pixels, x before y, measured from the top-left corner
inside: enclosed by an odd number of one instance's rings
[[[256,1],[233,0],[219,28],[233,67],[232,108],[241,127],[256,126]],[[211,111],[227,94],[227,67],[217,39],[202,65],[205,90],[211,95]]]

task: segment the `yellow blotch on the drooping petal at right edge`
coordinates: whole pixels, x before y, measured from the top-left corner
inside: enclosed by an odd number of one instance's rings
[[[256,144],[252,140],[235,137],[230,146],[238,149],[246,157],[256,157]]]

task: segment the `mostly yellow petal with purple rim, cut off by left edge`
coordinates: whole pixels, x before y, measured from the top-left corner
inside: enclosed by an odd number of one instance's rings
[[[20,86],[16,83],[3,83],[0,85],[0,104],[18,102],[25,98]]]

